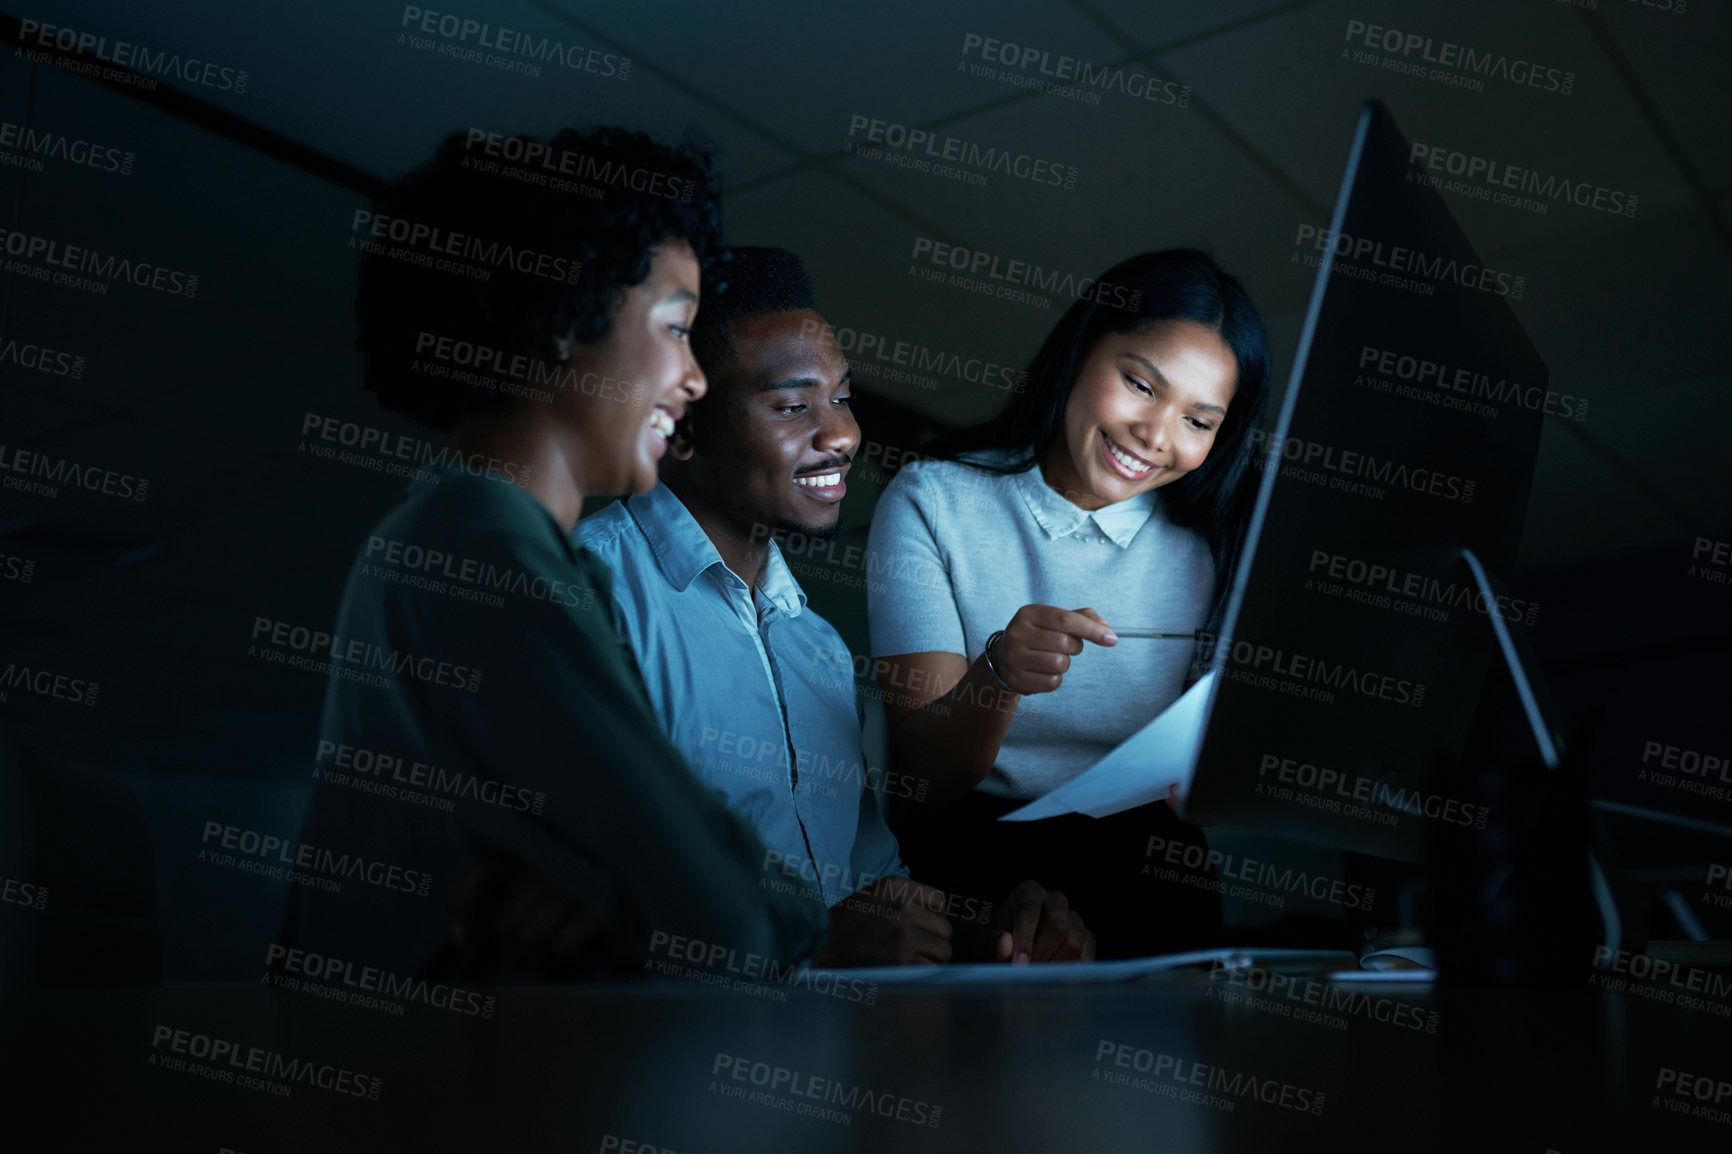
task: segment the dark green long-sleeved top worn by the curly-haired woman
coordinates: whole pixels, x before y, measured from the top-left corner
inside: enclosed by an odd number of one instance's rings
[[[291,885],[291,944],[421,972],[447,950],[457,866],[492,846],[641,951],[665,932],[811,958],[823,901],[766,868],[663,736],[608,568],[514,483],[440,477],[372,530],[320,655],[317,781],[291,854],[341,889]]]

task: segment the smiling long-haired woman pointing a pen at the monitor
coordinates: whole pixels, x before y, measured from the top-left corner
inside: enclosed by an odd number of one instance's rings
[[[894,688],[892,759],[932,787],[932,802],[899,814],[904,859],[961,894],[1055,878],[1100,955],[1128,956],[1218,927],[1211,875],[1160,880],[1166,854],[1150,849],[1199,832],[1166,806],[996,818],[1183,693],[1192,645],[1121,641],[1112,626],[1216,631],[1270,348],[1251,296],[1204,253],[1143,253],[1100,282],[1129,307],[1074,303],[996,419],[885,490],[871,572],[930,579],[869,587],[871,639]]]

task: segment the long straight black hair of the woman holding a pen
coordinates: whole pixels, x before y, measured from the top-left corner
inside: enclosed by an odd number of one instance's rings
[[[1112,301],[1112,303],[1108,303]],[[1029,362],[1024,388],[1003,412],[984,425],[940,437],[921,456],[960,461],[989,473],[1025,473],[1055,438],[1063,437],[1065,405],[1077,367],[1107,333],[1134,333],[1155,321],[1195,321],[1221,334],[1238,364],[1238,381],[1209,456],[1195,470],[1157,492],[1167,520],[1197,530],[1214,558],[1214,596],[1205,632],[1216,634],[1233,561],[1251,515],[1256,475],[1251,471],[1251,430],[1270,393],[1270,338],[1245,288],[1207,253],[1169,248],[1138,253],[1100,276],[1088,298],[1077,300],[1046,334]],[[1018,456],[1008,463],[977,459],[987,449]]]

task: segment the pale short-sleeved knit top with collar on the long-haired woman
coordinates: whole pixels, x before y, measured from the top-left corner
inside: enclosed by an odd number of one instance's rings
[[[1091,513],[1039,466],[989,473],[960,461],[902,466],[873,509],[866,570],[906,574],[866,586],[873,657],[972,662],[1024,605],[1086,605],[1124,629],[1200,629],[1214,593],[1207,541],[1174,525],[1157,490]],[[1031,799],[1070,781],[1179,698],[1192,655],[1183,641],[1084,646],[1057,693],[1020,700],[980,792]]]

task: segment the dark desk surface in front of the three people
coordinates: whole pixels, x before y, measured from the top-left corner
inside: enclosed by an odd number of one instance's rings
[[[3,1085],[76,1151],[1732,1151],[1656,1090],[1732,1019],[1597,986],[398,993],[9,991]]]

